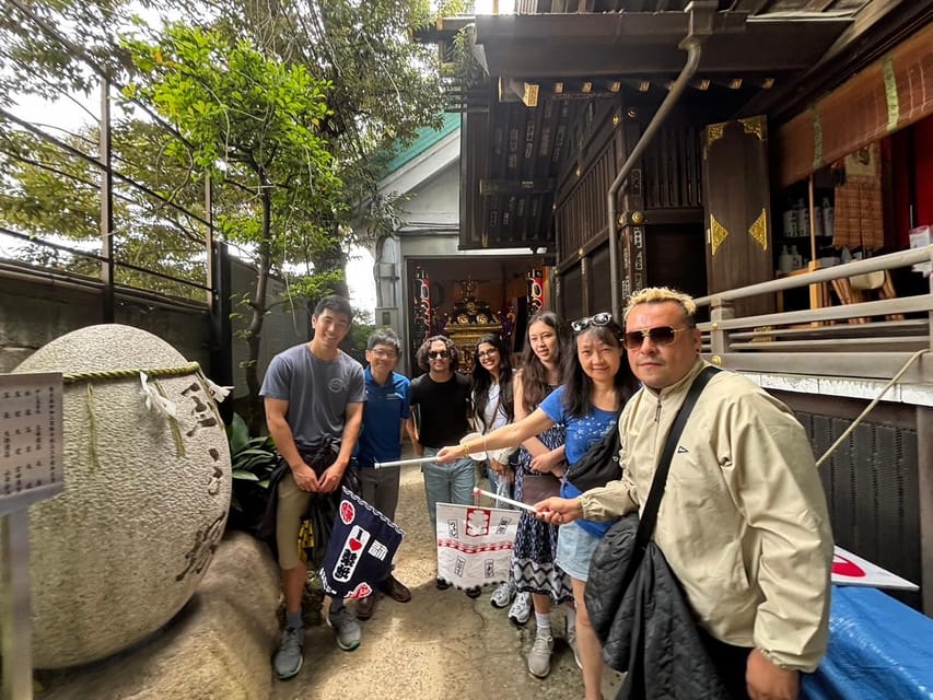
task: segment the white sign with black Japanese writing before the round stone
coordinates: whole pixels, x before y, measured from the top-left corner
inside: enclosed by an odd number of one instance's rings
[[[63,488],[61,374],[0,374],[0,514]]]

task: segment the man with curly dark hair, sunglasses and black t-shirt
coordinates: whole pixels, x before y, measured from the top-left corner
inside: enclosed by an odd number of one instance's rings
[[[411,383],[411,407],[417,411],[418,456],[431,457],[444,445],[459,442],[469,432],[469,378],[457,373],[459,352],[446,336],[431,336],[416,353],[422,374]],[[429,462],[421,467],[424,493],[428,499],[428,517],[431,527],[438,526],[438,503],[473,505],[476,468],[473,459],[464,455],[452,464]],[[451,587],[450,582],[438,576],[438,588]],[[467,595],[479,597],[480,588],[470,588]]]

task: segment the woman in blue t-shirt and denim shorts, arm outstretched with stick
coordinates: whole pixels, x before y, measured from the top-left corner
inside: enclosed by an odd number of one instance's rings
[[[563,424],[567,429],[567,474],[572,478],[573,465],[599,443],[606,432],[618,430],[619,413],[634,390],[634,380],[625,360],[622,329],[613,320],[611,314],[579,318],[570,326],[574,332],[576,352],[569,357],[563,386],[551,392],[523,420],[486,435],[481,445],[444,447],[438,453],[438,462],[450,462],[480,450],[520,445],[533,435]],[[561,495],[572,498],[576,494],[579,490],[564,478]],[[605,523],[580,520],[561,526],[558,533],[557,564],[570,576],[576,604],[576,639],[583,662],[586,700],[600,697],[603,660],[599,641],[586,614],[583,591],[593,550],[607,529]]]

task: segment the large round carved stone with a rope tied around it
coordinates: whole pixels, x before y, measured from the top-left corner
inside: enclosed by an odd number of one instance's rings
[[[66,382],[65,490],[30,508],[37,668],[142,640],[188,602],[210,564],[230,505],[223,423],[195,372],[152,376],[187,364],[152,334],[102,325],[54,340],[14,370],[142,369],[177,407],[177,421],[147,409],[138,373]]]

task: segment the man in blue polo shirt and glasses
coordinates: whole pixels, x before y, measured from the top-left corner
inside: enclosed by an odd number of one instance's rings
[[[417,438],[409,405],[411,382],[394,372],[400,349],[398,336],[388,328],[376,330],[366,342],[369,366],[363,372],[366,404],[355,457],[363,500],[389,520],[395,520],[398,505],[399,467],[374,469],[373,464],[393,462],[401,456],[403,427],[412,443]],[[411,599],[411,592],[392,574],[378,588],[393,600],[408,603]],[[371,618],[375,604],[375,593],[359,600],[357,618]]]

